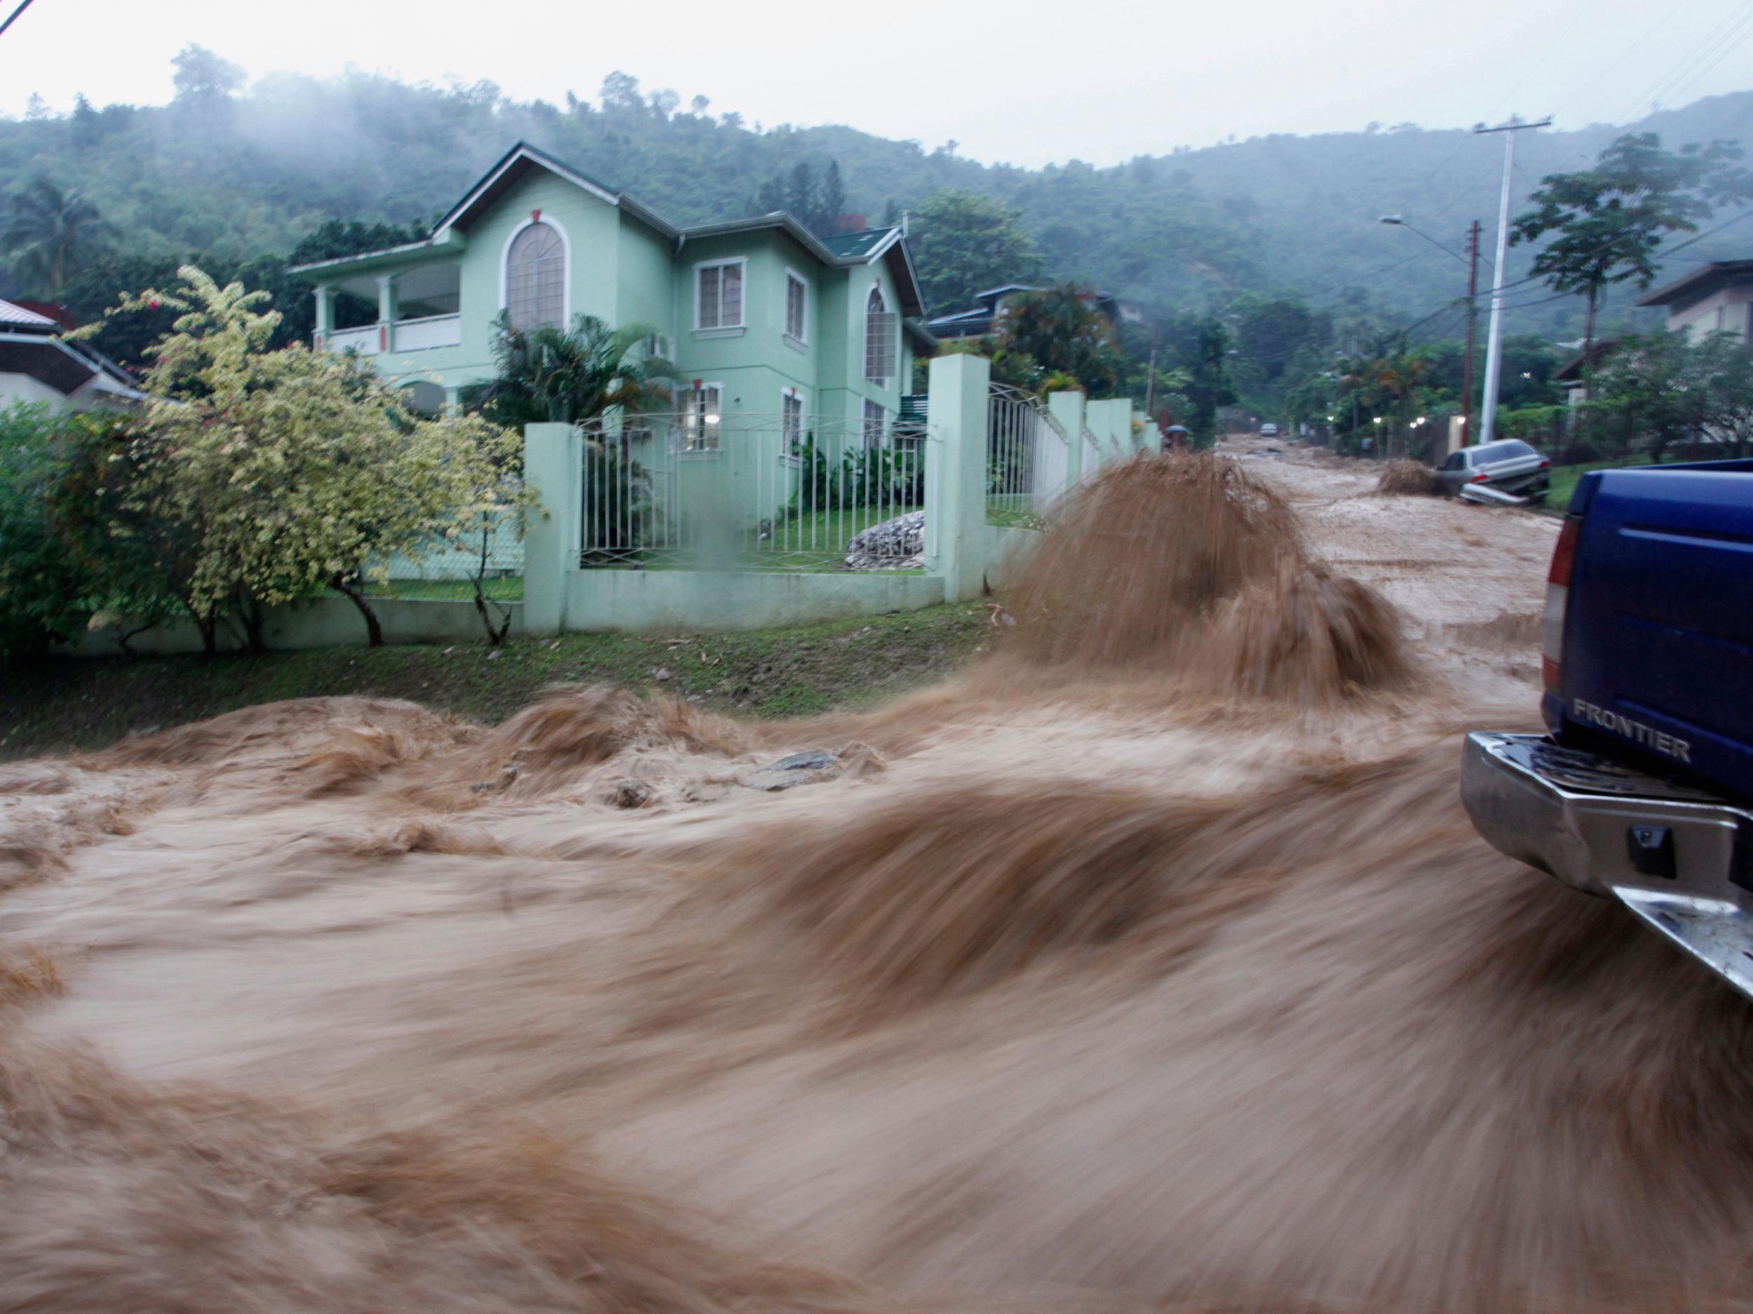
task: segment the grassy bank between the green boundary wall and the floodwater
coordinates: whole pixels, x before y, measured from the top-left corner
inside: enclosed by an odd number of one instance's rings
[[[978,604],[745,634],[564,634],[221,657],[60,659],[0,673],[0,759],[100,748],[130,731],[321,694],[405,697],[498,722],[561,682],[689,696],[752,717],[869,706],[959,666],[990,625]]]

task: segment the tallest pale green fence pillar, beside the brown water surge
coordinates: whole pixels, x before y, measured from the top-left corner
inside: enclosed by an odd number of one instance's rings
[[[987,403],[992,364],[980,356],[931,363],[926,443],[927,566],[945,601],[978,597],[985,576]]]

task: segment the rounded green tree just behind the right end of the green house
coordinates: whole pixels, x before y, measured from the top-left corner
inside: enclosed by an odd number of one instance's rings
[[[934,191],[908,235],[919,287],[933,310],[973,305],[975,293],[1047,277],[1047,263],[1015,210],[971,191]]]

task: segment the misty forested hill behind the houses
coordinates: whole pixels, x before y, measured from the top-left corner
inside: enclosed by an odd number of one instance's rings
[[[216,61],[223,63],[223,61]],[[1664,144],[1741,140],[1753,91],[1651,116],[1639,130]],[[1525,133],[1520,201],[1541,175],[1581,168],[1618,128]],[[212,251],[242,259],[287,252],[328,219],[407,223],[449,207],[507,145],[526,138],[682,223],[756,208],[756,191],[798,163],[838,161],[847,205],[871,221],[915,207],[936,187],[964,187],[1020,210],[1050,268],[1166,307],[1225,301],[1245,291],[1301,291],[1338,303],[1367,289],[1371,305],[1413,321],[1466,287],[1466,272],[1416,235],[1385,228],[1399,212],[1460,249],[1467,221],[1495,221],[1501,138],[1411,126],[1260,137],[1141,156],[1113,168],[1078,161],[1041,170],[980,165],[948,149],[852,128],[747,124],[682,109],[612,75],[596,102],[510,102],[493,84],[407,86],[349,74],[273,75],[247,93],[184,86],[167,107],[81,102],[68,116],[0,121],[0,177],[47,173],[79,187],[140,254]],[[1490,242],[1490,237],[1487,237]],[[1693,259],[1753,249],[1753,224],[1690,247]],[[1511,252],[1511,275],[1527,252]],[[1481,277],[1483,270],[1481,270]],[[1516,331],[1557,331],[1571,300],[1530,287]],[[1352,293],[1355,300],[1357,293]]]

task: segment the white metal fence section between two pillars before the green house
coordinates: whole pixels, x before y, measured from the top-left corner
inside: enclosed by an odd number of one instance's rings
[[[578,564],[906,569],[926,548],[922,422],[717,413],[586,426]]]

